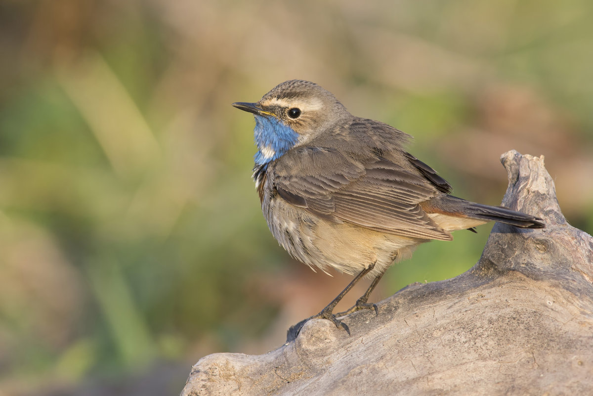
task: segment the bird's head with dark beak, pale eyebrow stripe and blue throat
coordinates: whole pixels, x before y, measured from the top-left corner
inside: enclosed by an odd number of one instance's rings
[[[304,145],[350,116],[331,92],[309,81],[291,80],[277,85],[256,103],[232,106],[253,113],[258,165],[273,161],[289,149]]]

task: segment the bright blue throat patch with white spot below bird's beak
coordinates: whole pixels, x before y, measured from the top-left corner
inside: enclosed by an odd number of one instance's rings
[[[254,155],[257,165],[265,165],[282,157],[298,142],[298,133],[276,117],[255,115],[253,139],[258,151]]]

